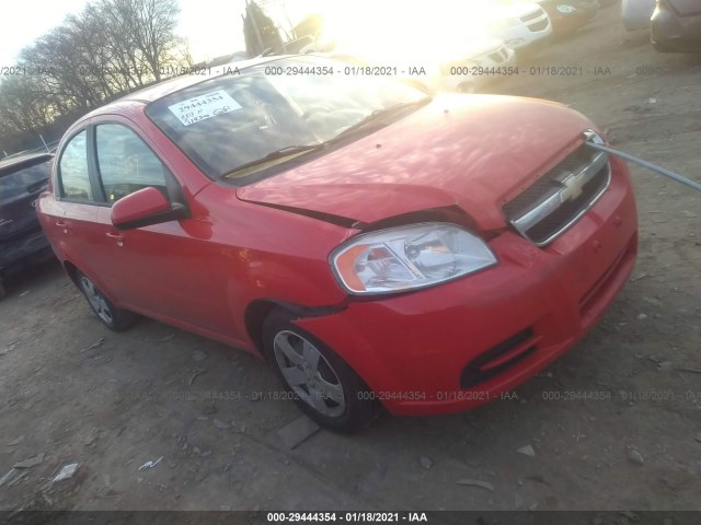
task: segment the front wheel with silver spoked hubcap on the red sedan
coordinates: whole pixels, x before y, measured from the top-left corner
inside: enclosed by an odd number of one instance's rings
[[[320,427],[352,433],[367,428],[380,405],[358,374],[326,345],[274,310],[263,323],[263,351],[287,392]]]

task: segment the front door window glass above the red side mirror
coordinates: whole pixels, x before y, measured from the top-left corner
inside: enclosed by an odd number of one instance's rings
[[[96,127],[100,177],[108,203],[153,186],[164,195],[168,168],[129,128],[119,124]]]

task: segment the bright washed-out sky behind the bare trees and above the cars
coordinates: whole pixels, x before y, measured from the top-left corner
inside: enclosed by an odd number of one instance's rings
[[[356,40],[368,46],[377,46],[368,38],[368,33],[380,31],[372,28],[370,22],[378,20],[401,20],[392,27],[401,33],[421,31],[421,42],[445,39],[446,33],[456,36],[464,34],[464,24],[469,16],[455,16],[459,24],[456,31],[445,31],[448,20],[441,19],[439,24],[426,23],[427,13],[440,13],[446,8],[459,13],[470,2],[464,0],[429,0],[415,2],[412,0],[256,0],[284,28],[299,23],[304,15],[323,12],[334,34],[342,40]],[[0,68],[16,65],[20,50],[31,45],[37,37],[61,24],[66,15],[77,14],[85,7],[88,0],[13,0],[12,11],[7,18],[12,23],[3,24],[0,31]],[[187,39],[195,62],[244,50],[242,21],[245,0],[180,0],[181,13],[176,34]],[[406,5],[424,7],[410,13]],[[440,9],[437,5],[440,5]],[[7,8],[5,8],[7,9]],[[401,16],[397,14],[401,12]],[[335,23],[334,23],[335,22]],[[433,30],[433,32],[432,32]],[[376,35],[377,36],[377,35]],[[400,39],[397,39],[400,42]],[[377,40],[376,40],[377,42]],[[383,45],[387,43],[383,43]],[[357,46],[356,46],[357,47]],[[357,50],[357,49],[356,49]],[[0,81],[2,78],[0,77]]]

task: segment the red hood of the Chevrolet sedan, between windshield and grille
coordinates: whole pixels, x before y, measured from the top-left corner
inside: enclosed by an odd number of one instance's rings
[[[498,229],[505,225],[503,203],[570,153],[590,127],[581,114],[551,102],[444,95],[237,195],[365,223],[459,206],[480,229]]]

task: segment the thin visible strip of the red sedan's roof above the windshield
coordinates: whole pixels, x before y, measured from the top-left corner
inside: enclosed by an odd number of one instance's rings
[[[271,61],[279,60],[281,58],[289,58],[289,57],[290,55],[255,57],[249,60],[240,60],[240,61],[229,62],[223,66],[220,66],[222,68],[222,72],[217,75],[186,74],[182,77],[176,77],[174,79],[164,80],[163,82],[159,82],[148,88],[143,88],[142,90],[135,91],[134,93],[129,93],[128,95],[117,98],[114,102],[100,106],[96,109],[93,109],[92,112],[90,112],[84,117],[82,117],[80,121],[94,117],[96,115],[104,115],[104,114],[112,113],[113,109],[117,108],[117,106],[124,107],[125,105],[133,105],[133,104],[139,104],[139,105],[148,104],[150,102],[168,96],[172,93],[175,93],[176,91],[184,90],[185,88],[189,88],[192,85],[206,82],[207,80],[211,80],[217,77],[223,77],[226,74],[223,68],[238,69],[239,71],[241,71],[243,69],[248,69],[253,66],[257,66],[260,63],[271,62]]]

